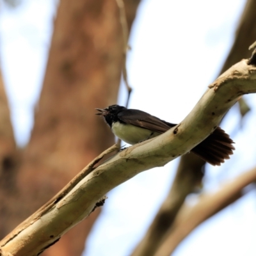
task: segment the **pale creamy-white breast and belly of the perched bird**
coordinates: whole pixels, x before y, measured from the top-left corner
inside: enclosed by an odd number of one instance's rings
[[[118,138],[131,145],[159,135],[158,132],[152,134],[152,132],[147,129],[131,124],[121,124],[120,122],[113,123],[111,129]]]

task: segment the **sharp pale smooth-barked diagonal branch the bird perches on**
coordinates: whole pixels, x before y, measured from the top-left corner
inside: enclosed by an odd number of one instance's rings
[[[256,67],[248,65],[248,60],[242,60],[209,86],[180,124],[161,136],[126,148],[100,164],[40,219],[32,215],[29,226],[22,232],[14,230],[17,236],[3,239],[0,243],[3,252],[13,256],[37,255],[86,218],[108,191],[140,172],[163,166],[189,152],[216,129],[223,115],[241,95],[255,92]]]

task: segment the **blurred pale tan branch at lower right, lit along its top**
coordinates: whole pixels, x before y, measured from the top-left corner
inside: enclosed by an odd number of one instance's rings
[[[232,204],[243,196],[242,189],[256,180],[256,169],[243,173],[227,184],[223,184],[218,192],[200,196],[195,206],[184,205],[177,214],[172,228],[170,228],[164,243],[154,256],[169,256],[179,243],[200,223],[211,218],[227,205]]]

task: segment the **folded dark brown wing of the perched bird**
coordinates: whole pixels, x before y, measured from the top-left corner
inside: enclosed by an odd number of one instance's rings
[[[171,124],[152,116],[138,109],[125,109],[118,113],[118,119],[126,124],[132,124],[150,131],[163,133],[168,131],[176,124]]]

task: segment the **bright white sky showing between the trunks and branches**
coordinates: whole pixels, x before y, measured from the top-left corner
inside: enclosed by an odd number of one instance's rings
[[[1,68],[19,145],[29,140],[33,125],[33,108],[44,77],[56,3],[24,0],[15,9],[1,6]],[[217,76],[244,3],[143,1],[132,31],[127,63],[134,88],[130,107],[169,122],[180,122]],[[207,191],[218,189],[223,180],[256,165],[255,96],[247,95],[246,100],[254,109],[244,118],[243,127],[236,107],[221,125],[236,141],[236,152],[221,167],[207,167]],[[125,104],[124,86],[119,102]],[[84,255],[129,255],[154,218],[178,162],[141,173],[113,189],[93,227]],[[193,200],[196,195],[189,196],[188,202]],[[252,191],[196,228],[173,255],[255,255],[255,212]]]

